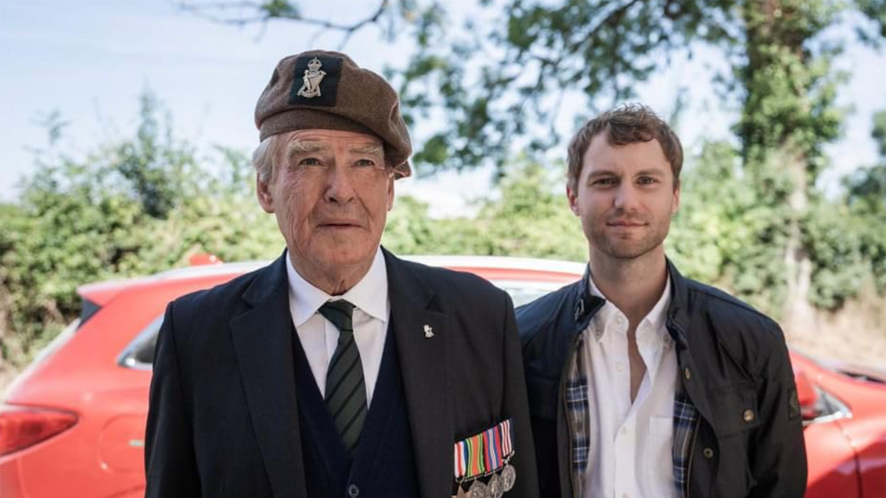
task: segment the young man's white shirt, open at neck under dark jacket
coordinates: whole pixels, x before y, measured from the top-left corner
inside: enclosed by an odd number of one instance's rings
[[[590,291],[602,297],[590,278]],[[664,327],[671,280],[655,307],[637,326],[637,347],[646,373],[631,402],[628,321],[609,301],[585,333],[590,447],[586,498],[677,498],[673,480],[673,397],[677,355]]]

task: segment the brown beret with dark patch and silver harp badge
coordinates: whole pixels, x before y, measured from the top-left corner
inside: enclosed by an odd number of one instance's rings
[[[411,174],[412,144],[400,97],[378,74],[343,53],[307,51],[281,60],[255,105],[260,140],[294,129],[339,129],[377,136],[398,178]]]

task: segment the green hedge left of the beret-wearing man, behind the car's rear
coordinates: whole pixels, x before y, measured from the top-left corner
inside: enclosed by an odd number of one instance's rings
[[[273,217],[254,200],[245,155],[219,148],[198,158],[161,113],[145,95],[134,136],[82,160],[38,152],[19,202],[0,206],[4,364],[24,364],[78,315],[81,284],[150,275],[194,253],[244,261],[283,247]]]

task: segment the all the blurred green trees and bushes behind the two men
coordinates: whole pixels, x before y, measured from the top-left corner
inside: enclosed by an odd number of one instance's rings
[[[734,140],[687,158],[682,205],[667,241],[682,271],[734,292],[778,318],[796,344],[854,358],[886,353],[886,110],[871,139],[880,160],[821,185],[823,152],[849,110],[835,104],[848,74],[835,70],[849,27],[880,49],[883,0],[478,0],[500,22],[448,27],[444,4],[385,1],[361,23],[306,19],[287,0],[183,4],[243,25],[320,24],[346,37],[368,24],[416,47],[391,70],[408,122],[437,128],[416,144],[423,175],[494,167],[496,183],[471,216],[431,218],[397,198],[383,243],[395,253],[495,254],[584,261],[587,243],[563,195],[564,150],[554,121],[565,92],[587,101],[633,97],[692,43],[722,51],[725,105],[740,109]],[[187,15],[187,14],[185,14]],[[325,25],[323,23],[326,23]],[[680,96],[688,98],[688,96]],[[214,253],[223,261],[270,259],[283,246],[254,198],[248,152],[198,154],[175,136],[150,91],[130,136],[96,144],[85,160],[49,142],[14,204],[0,205],[0,370],[17,370],[79,313],[77,285],[151,274]],[[680,102],[671,116],[676,126]],[[564,154],[563,154],[564,156]],[[836,193],[828,193],[836,192]],[[859,342],[860,341],[860,342]],[[873,342],[872,342],[873,341]]]

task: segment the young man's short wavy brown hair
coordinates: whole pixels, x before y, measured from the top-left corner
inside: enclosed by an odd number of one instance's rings
[[[610,145],[636,144],[637,142],[649,142],[657,140],[664,151],[664,157],[671,163],[673,173],[673,186],[680,186],[680,168],[683,167],[683,146],[680,138],[673,132],[664,120],[646,105],[626,104],[619,105],[614,109],[600,114],[591,121],[587,121],[578,133],[572,137],[569,143],[569,156],[566,171],[566,179],[569,188],[576,191],[579,188],[579,175],[581,175],[581,160],[591,145],[595,136],[606,132]]]

